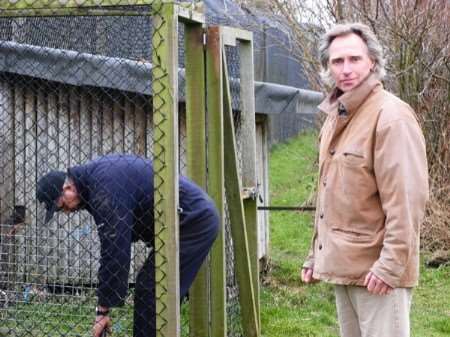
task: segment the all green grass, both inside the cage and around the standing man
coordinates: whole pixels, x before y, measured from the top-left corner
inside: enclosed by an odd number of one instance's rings
[[[317,178],[316,138],[315,133],[305,133],[273,149],[270,160],[272,205],[300,205],[310,199]],[[299,280],[299,269],[312,235],[312,216],[288,211],[270,214],[270,268],[261,287],[264,337],[339,336],[333,287],[325,283],[304,286]],[[450,336],[449,280],[450,266],[426,269],[422,263],[420,286],[413,296],[412,337]],[[44,303],[37,299],[29,304],[17,303],[11,310],[0,310],[0,337],[89,336],[95,296],[70,299],[67,302],[64,298],[47,298]],[[188,335],[188,308],[183,305],[181,310],[182,336],[185,337]],[[131,336],[131,304],[114,309],[112,315],[113,336]]]

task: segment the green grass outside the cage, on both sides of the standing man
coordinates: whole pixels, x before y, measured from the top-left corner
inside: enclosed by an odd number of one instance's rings
[[[270,158],[271,204],[296,206],[311,198],[317,178],[317,134],[276,145]],[[265,337],[338,337],[333,287],[301,284],[300,266],[312,235],[313,214],[272,211],[270,260],[261,287]],[[450,266],[421,266],[414,290],[412,337],[450,336]]]

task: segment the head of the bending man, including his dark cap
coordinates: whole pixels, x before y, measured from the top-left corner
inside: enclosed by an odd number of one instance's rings
[[[36,197],[45,204],[45,223],[57,211],[76,211],[80,206],[80,196],[75,183],[62,171],[50,171],[37,183]]]

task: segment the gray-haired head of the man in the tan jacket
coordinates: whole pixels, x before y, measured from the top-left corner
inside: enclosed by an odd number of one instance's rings
[[[372,30],[362,23],[338,24],[319,45],[322,79],[342,91],[353,89],[370,73],[385,75],[383,50]]]

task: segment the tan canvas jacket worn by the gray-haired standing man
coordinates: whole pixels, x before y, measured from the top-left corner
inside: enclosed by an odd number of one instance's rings
[[[369,271],[413,287],[428,199],[425,141],[413,110],[369,76],[319,108],[315,231],[304,267],[334,284],[363,285]],[[346,115],[338,113],[345,108]]]

